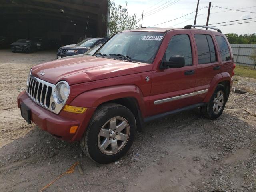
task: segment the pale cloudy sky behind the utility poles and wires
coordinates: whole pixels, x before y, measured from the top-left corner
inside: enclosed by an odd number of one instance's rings
[[[137,18],[141,18],[142,11],[144,11],[143,27],[153,26],[155,24],[163,23],[173,20],[180,16],[184,16],[196,10],[197,0],[113,0],[116,5],[125,6],[127,1],[128,14],[136,14]],[[209,26],[218,26],[224,24],[232,24],[237,22],[256,21],[256,0],[212,0],[212,7],[210,10]],[[170,5],[170,6],[169,6]],[[196,24],[206,25],[207,12],[209,0],[200,0],[198,16]],[[218,8],[219,6],[222,8]],[[251,7],[251,8],[249,8]],[[240,11],[230,11],[223,8],[239,9]],[[248,13],[255,12],[255,13]],[[195,13],[189,14],[182,18],[166,22],[164,24],[156,25],[155,27],[184,27],[188,24],[194,24]],[[237,21],[232,23],[215,24],[220,22],[247,19],[249,20]],[[254,18],[254,19],[253,19]],[[141,21],[140,21],[141,22]],[[215,24],[215,25],[210,25]],[[236,34],[252,34],[256,33],[256,22],[237,24],[229,26],[218,26],[222,33],[236,33]]]

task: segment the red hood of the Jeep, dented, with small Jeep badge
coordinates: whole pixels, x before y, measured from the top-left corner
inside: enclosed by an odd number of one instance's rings
[[[52,84],[65,80],[72,85],[150,70],[152,64],[87,56],[36,65],[32,68],[32,75]],[[43,76],[41,72],[44,72]]]

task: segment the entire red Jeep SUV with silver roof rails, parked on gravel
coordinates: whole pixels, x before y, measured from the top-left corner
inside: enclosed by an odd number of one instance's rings
[[[93,56],[32,67],[18,96],[22,116],[79,140],[102,164],[121,158],[144,122],[198,107],[217,118],[233,82],[232,50],[219,29],[191,27],[123,31]]]

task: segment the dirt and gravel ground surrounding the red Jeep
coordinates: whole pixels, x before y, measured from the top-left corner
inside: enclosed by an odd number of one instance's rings
[[[235,76],[235,90],[247,93],[231,92],[220,118],[208,120],[195,109],[150,122],[128,154],[100,165],[83,154],[78,142],[59,140],[20,116],[16,97],[30,67],[55,56],[0,50],[1,192],[40,191],[77,161],[83,175],[76,167],[44,191],[256,191],[255,79]]]

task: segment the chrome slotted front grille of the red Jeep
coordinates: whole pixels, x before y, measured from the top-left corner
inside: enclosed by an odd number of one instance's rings
[[[54,101],[54,91],[54,84],[36,78],[32,75],[29,76],[29,83],[26,88],[26,93],[30,99],[43,108],[58,114],[60,110],[62,110],[65,103],[56,103]],[[52,102],[55,103],[54,108],[51,107]]]

